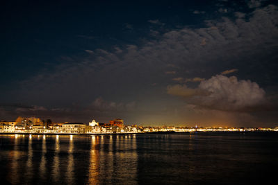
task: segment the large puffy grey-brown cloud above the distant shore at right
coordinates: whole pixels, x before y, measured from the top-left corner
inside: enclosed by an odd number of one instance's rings
[[[213,76],[195,89],[169,86],[167,93],[187,98],[192,105],[225,111],[244,111],[266,103],[265,91],[256,82],[238,80],[236,76]]]

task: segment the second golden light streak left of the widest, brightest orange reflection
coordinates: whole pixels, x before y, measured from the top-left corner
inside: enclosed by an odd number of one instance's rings
[[[60,181],[59,152],[60,152],[59,136],[56,135],[55,155],[54,155],[53,167],[52,167],[52,176],[53,176],[54,182],[56,182],[56,183],[58,183]]]

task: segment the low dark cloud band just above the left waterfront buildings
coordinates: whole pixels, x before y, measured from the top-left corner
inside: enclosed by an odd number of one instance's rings
[[[113,117],[124,118],[124,113],[133,114],[136,111],[136,101],[127,103],[104,100],[99,97],[87,105],[72,104],[67,107],[44,107],[41,105],[6,104],[0,105],[0,116],[15,121],[17,116],[36,116],[42,119],[51,118],[52,121],[81,121],[87,123],[91,118],[108,121]]]

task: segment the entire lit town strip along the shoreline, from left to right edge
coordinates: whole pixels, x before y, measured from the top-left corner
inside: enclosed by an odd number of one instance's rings
[[[0,133],[33,134],[128,134],[148,132],[265,132],[278,131],[278,127],[174,127],[124,125],[124,121],[115,118],[109,123],[97,123],[92,120],[85,123],[55,123],[36,117],[21,117],[16,121],[0,121]]]

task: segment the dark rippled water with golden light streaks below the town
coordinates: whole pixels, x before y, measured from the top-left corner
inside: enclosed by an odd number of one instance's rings
[[[1,184],[255,184],[277,176],[278,133],[0,135]]]

